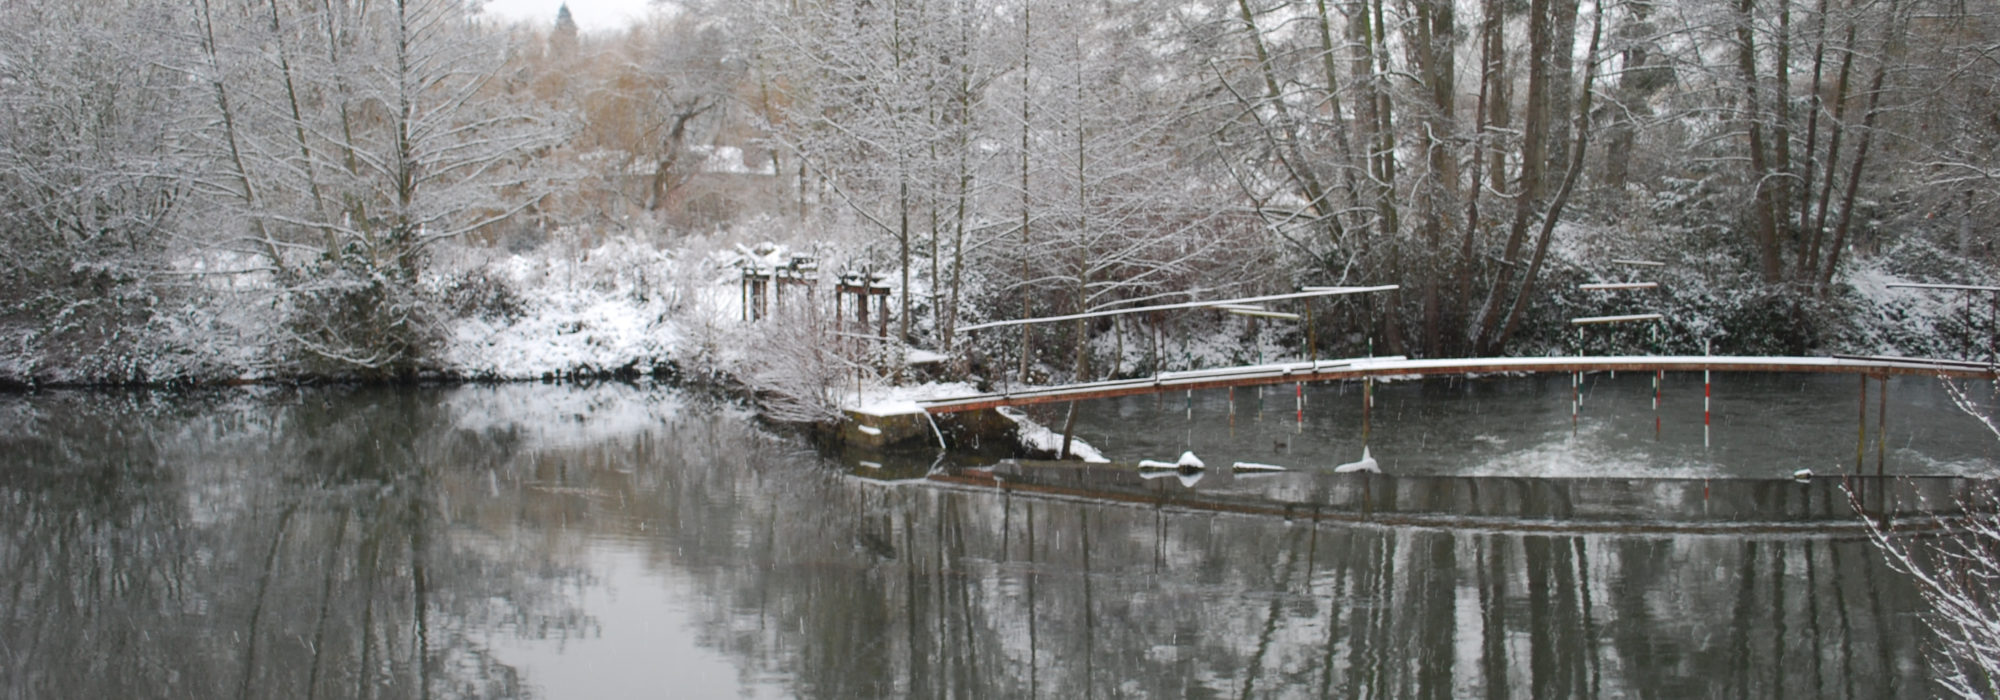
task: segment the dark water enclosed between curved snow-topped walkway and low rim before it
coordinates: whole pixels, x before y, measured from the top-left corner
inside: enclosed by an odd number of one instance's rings
[[[1992,402],[1990,382],[1966,396]],[[1708,430],[1702,430],[1702,394]],[[1538,374],[1374,384],[1368,448],[1390,474],[1450,476],[1752,476],[1854,470],[1860,378],[1842,374],[1670,372],[1654,408],[1652,372]],[[1084,402],[1076,434],[1120,462],[1184,450],[1210,464],[1332,468],[1362,456],[1362,382],[1278,384]],[[1952,404],[1936,378],[1868,380],[1862,468],[1874,474],[1988,476],[2000,440]],[[1304,408],[1300,408],[1304,406]],[[1886,424],[1884,424],[1886,408]],[[1036,418],[1062,424],[1062,408]],[[1876,440],[1878,428],[1886,428]],[[1880,452],[1880,458],[1878,458]]]

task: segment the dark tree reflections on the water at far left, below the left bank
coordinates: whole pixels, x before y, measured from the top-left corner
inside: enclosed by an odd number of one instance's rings
[[[558,590],[578,572],[450,536],[436,466],[494,454],[436,404],[10,398],[6,694],[520,696],[468,632],[584,632]]]

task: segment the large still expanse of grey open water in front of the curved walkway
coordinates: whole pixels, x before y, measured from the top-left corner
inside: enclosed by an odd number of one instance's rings
[[[1550,392],[1510,382],[1474,400]],[[0,694],[1932,694],[1922,602],[1852,520],[1834,524],[1824,480],[1790,490],[1730,480],[1728,466],[1466,480],[1484,468],[1450,466],[1496,462],[1478,450],[1540,454],[1554,448],[1528,442],[1572,438],[1566,402],[1564,430],[1546,438],[1424,408],[1460,392],[1378,396],[1370,444],[1384,466],[1430,476],[1194,486],[822,456],[742,408],[656,386],[0,396]],[[1198,398],[1198,416],[1214,408]],[[1892,426],[1916,412],[1890,400]],[[1324,404],[1328,426],[1346,420]],[[1118,412],[1100,414],[1092,426]],[[1432,438],[1412,438],[1416,422],[1438,424]],[[1852,416],[1824,430],[1852,450]],[[1324,458],[1350,448],[1290,438]],[[1134,454],[1174,448],[1158,440]],[[1922,454],[1950,472],[1982,458],[1972,442],[1926,442],[1898,444],[1896,464]],[[1480,448],[1448,454],[1466,444]],[[1772,460],[1784,464],[1750,470],[1792,464]],[[1710,476],[1722,476],[1714,496]],[[1450,498],[1418,498],[1466,484],[1528,496],[1460,502],[1600,510],[1574,528],[1458,522]],[[1344,510],[1356,488],[1366,516]],[[1788,504],[1770,518],[1788,526],[1750,522],[1770,502]],[[1618,504],[1654,514],[1614,522]]]

